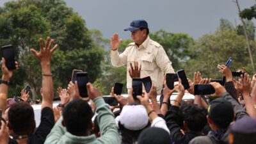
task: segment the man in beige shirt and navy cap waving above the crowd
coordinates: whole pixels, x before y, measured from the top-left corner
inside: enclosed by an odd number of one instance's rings
[[[151,40],[148,36],[148,24],[145,20],[133,20],[131,27],[124,29],[131,31],[133,42],[127,45],[122,54],[117,51],[121,44],[118,34],[111,37],[111,63],[115,67],[127,65],[127,88],[132,88],[132,78],[129,76],[130,63],[138,61],[141,65],[140,77],[150,76],[152,82],[157,86],[157,93],[161,93],[163,77],[166,73],[174,73],[172,62],[169,60],[163,47]]]

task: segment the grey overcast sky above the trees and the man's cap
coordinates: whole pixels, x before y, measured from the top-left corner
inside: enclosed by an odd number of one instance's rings
[[[7,0],[0,0],[1,6]],[[145,19],[150,31],[164,29],[170,33],[188,33],[200,38],[213,33],[225,18],[240,23],[233,0],[65,0],[67,6],[86,20],[89,29],[99,29],[104,38],[125,32],[134,19]],[[239,0],[241,9],[249,8],[255,0]],[[255,20],[253,20],[255,23]]]

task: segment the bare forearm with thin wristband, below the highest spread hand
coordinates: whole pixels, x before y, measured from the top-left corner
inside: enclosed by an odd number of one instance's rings
[[[53,82],[51,76],[51,65],[49,63],[41,63],[42,67],[42,89],[43,89],[43,100],[42,108],[52,108],[53,100]]]

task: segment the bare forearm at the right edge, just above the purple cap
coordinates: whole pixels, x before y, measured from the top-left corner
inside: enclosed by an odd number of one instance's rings
[[[248,113],[248,115],[250,116],[256,116],[256,109],[254,108],[253,102],[252,102],[252,98],[250,97],[249,93],[243,93],[243,98],[245,101],[245,108],[246,108],[246,112]]]

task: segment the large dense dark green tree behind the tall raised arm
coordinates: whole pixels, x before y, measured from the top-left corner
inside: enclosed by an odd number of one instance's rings
[[[0,43],[12,44],[19,61],[19,77],[13,76],[19,93],[29,83],[33,98],[40,95],[42,72],[40,63],[29,52],[31,47],[39,51],[38,39],[54,38],[59,49],[54,52],[51,70],[54,87],[67,87],[74,68],[88,71],[90,81],[95,81],[101,72],[103,49],[93,44],[85,21],[63,0],[20,0],[10,1],[0,8]],[[16,72],[16,73],[17,73]],[[16,83],[17,82],[17,83]]]

